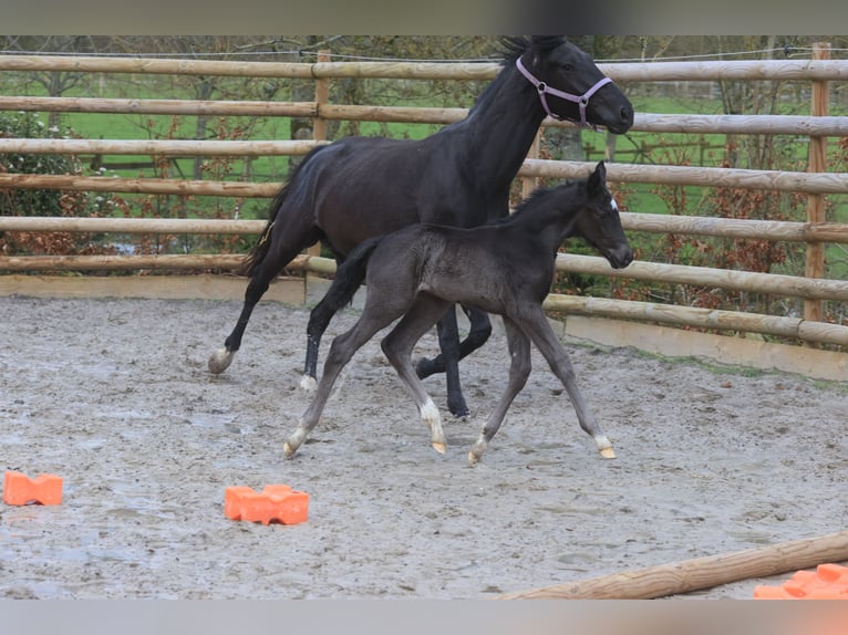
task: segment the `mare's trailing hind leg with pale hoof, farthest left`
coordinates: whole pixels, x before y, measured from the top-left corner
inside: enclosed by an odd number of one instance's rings
[[[285,210],[279,211],[277,225],[273,226],[273,232],[268,238],[268,240],[272,241],[271,246],[250,277],[250,282],[245,291],[245,302],[235,329],[232,329],[232,332],[224,342],[224,348],[215,351],[209,357],[209,372],[215,375],[219,375],[227,369],[232,362],[232,356],[241,347],[241,337],[245,334],[245,329],[254,312],[254,308],[261,300],[265,292],[268,291],[271,280],[302,249],[314,243],[320,238],[319,230],[311,225],[304,227],[281,226],[280,217],[283,214]]]

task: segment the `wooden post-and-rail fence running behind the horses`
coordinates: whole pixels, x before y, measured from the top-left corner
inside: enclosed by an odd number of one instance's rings
[[[616,185],[650,184],[658,188],[691,186],[714,188],[716,191],[783,192],[806,197],[807,217],[802,220],[762,220],[749,218],[697,217],[679,214],[652,214],[652,210],[622,214],[629,232],[660,237],[713,237],[727,241],[764,241],[804,247],[804,274],[780,274],[745,271],[741,268],[692,267],[674,262],[638,260],[621,271],[613,271],[603,259],[591,256],[562,253],[557,268],[563,274],[616,277],[620,280],[650,281],[665,285],[694,285],[724,289],[740,294],[756,293],[777,299],[804,302],[803,314],[766,314],[740,310],[718,310],[675,303],[629,301],[622,298],[587,298],[552,293],[547,308],[585,315],[601,315],[625,320],[673,324],[718,331],[759,333],[790,339],[810,345],[826,345],[836,350],[848,346],[848,325],[840,314],[825,310],[826,303],[848,302],[848,282],[827,279],[826,247],[848,243],[848,225],[827,219],[827,197],[848,194],[848,174],[828,170],[828,138],[848,137],[848,117],[831,116],[828,112],[828,90],[834,82],[848,79],[848,61],[828,60],[827,48],[820,46],[814,60],[740,61],[740,62],[655,62],[601,64],[602,71],[617,83],[635,90],[642,82],[800,82],[808,84],[809,113],[802,115],[697,115],[652,114],[638,112],[633,132],[656,134],[724,135],[732,139],[742,135],[764,137],[785,136],[808,147],[808,160],[802,169],[749,169],[692,165],[645,165],[611,162],[608,178]],[[9,113],[100,113],[179,115],[204,117],[308,117],[312,119],[312,135],[308,139],[248,140],[248,139],[77,139],[77,138],[0,138],[0,155],[92,157],[93,164],[111,155],[148,157],[151,165],[162,165],[177,157],[268,157],[299,156],[318,144],[328,143],[328,122],[368,121],[386,123],[448,124],[464,117],[466,108],[399,107],[376,105],[340,105],[329,102],[330,82],[338,80],[364,81],[382,79],[397,82],[410,80],[488,81],[498,72],[494,63],[383,63],[327,62],[268,63],[217,62],[186,60],[104,59],[83,56],[0,56],[0,73],[33,71],[75,72],[133,75],[227,75],[308,80],[314,82],[314,100],[310,102],[263,101],[203,101],[165,98],[100,98],[0,96],[0,111]],[[542,135],[570,124],[546,121]],[[706,152],[716,147],[714,142],[701,140]],[[725,142],[730,144],[730,140]],[[722,144],[718,144],[721,146]],[[545,143],[531,150],[519,173],[527,194],[540,179],[565,179],[586,176],[594,160],[566,162],[539,158]],[[671,147],[671,144],[670,144]],[[704,147],[699,152],[703,154]],[[586,152],[591,153],[590,148]],[[610,145],[607,144],[608,154]],[[623,153],[622,153],[623,154]],[[621,155],[620,155],[621,156]],[[246,164],[249,165],[249,164]],[[173,170],[172,170],[173,171]],[[197,176],[197,175],[194,175]],[[85,176],[82,174],[14,174],[0,171],[0,194],[19,190],[60,190],[62,192],[126,192],[166,196],[230,197],[238,201],[272,197],[281,183],[257,183],[247,168],[229,178],[187,178],[170,173],[159,178]],[[230,218],[125,218],[121,215],[97,215],[91,218],[0,216],[0,232],[28,232],[49,236],[55,232],[85,235],[211,235],[239,237],[257,235],[262,220],[239,218],[240,202]],[[157,215],[169,216],[168,209]],[[117,217],[116,217],[117,216]],[[174,216],[179,216],[175,212]],[[728,242],[732,249],[740,243]],[[744,244],[744,243],[743,243]],[[240,257],[234,253],[138,253],[103,254],[74,253],[7,254],[0,257],[0,271],[108,271],[108,270],[228,270],[235,269]],[[307,269],[331,273],[333,262],[311,252],[292,263],[291,269]],[[620,291],[620,290],[619,290]],[[786,313],[786,312],[784,312]]]

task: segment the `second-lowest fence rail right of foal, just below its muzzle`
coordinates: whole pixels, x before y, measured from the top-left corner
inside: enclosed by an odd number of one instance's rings
[[[805,298],[811,300],[848,300],[848,281],[799,278],[777,273],[757,273],[752,271],[732,271],[709,267],[689,267],[684,264],[664,264],[661,262],[631,262],[625,269],[612,269],[606,258],[598,256],[577,256],[560,253],[557,256],[557,270],[569,273],[588,273],[650,280],[666,284],[692,284],[697,287],[717,287],[732,291],[767,293],[784,298]]]

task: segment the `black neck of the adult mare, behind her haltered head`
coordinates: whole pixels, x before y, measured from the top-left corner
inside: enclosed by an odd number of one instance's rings
[[[479,186],[507,191],[545,118],[532,86],[507,65],[456,131],[466,135],[467,160]]]

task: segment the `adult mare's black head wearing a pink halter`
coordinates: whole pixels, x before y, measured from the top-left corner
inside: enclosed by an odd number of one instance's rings
[[[507,41],[507,64],[516,64],[555,118],[604,126],[623,134],[633,125],[633,105],[594,65],[591,55],[562,37]],[[530,86],[530,87],[532,87]]]

